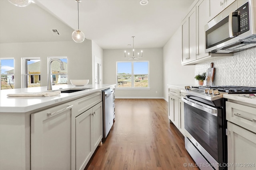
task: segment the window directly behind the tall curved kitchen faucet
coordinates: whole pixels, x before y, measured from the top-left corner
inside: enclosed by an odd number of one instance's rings
[[[52,76],[52,84],[54,85],[62,85],[67,84],[68,82],[68,59],[67,57],[48,57],[48,62],[51,59],[60,59],[63,64],[65,70],[60,70],[60,63],[58,61],[53,61],[51,64],[51,76]]]

